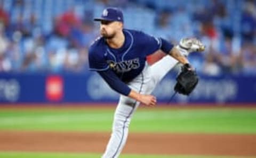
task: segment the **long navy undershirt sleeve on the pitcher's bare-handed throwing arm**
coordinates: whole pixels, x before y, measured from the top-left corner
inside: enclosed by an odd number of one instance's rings
[[[130,94],[130,87],[122,82],[111,69],[97,72],[108,83],[111,89],[126,96]]]

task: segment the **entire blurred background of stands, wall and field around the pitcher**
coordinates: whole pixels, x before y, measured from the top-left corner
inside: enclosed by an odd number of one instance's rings
[[[0,157],[100,157],[118,94],[89,71],[87,53],[99,36],[93,17],[107,6],[123,10],[127,29],[206,45],[189,56],[195,91],[175,95],[173,108],[140,107],[122,157],[255,157],[256,1],[245,0],[0,0]],[[159,105],[170,101],[178,71],[154,91]]]

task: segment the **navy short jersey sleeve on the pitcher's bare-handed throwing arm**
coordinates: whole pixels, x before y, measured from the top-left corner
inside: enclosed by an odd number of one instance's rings
[[[103,52],[99,52],[92,47],[89,49],[89,69],[90,71],[105,71],[109,68]]]

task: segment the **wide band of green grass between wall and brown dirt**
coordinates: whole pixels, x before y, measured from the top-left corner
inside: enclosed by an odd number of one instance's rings
[[[0,130],[110,131],[114,108],[0,109]],[[139,109],[131,131],[256,134],[256,109]]]

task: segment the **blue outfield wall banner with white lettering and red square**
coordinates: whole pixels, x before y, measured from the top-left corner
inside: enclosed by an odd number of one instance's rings
[[[189,96],[176,94],[171,102],[255,103],[256,77],[200,75]],[[175,75],[169,74],[153,92],[158,102],[169,102]],[[117,102],[119,95],[97,73],[0,74],[1,103]]]

